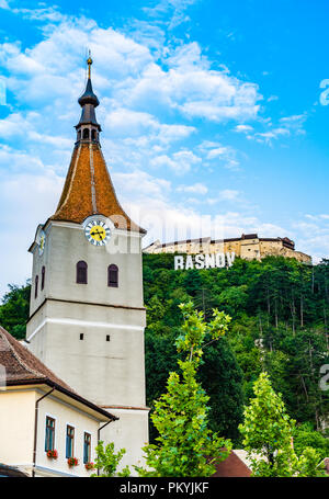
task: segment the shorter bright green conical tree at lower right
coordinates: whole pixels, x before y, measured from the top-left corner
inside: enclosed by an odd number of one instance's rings
[[[246,407],[245,422],[239,427],[253,476],[325,476],[316,450],[306,447],[297,457],[293,447],[295,421],[286,413],[281,394],[273,390],[266,373],[261,373],[253,392],[256,397]]]

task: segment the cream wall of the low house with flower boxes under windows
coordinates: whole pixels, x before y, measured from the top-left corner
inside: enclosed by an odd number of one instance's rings
[[[33,387],[0,390],[0,462],[18,466],[29,475],[33,468],[35,402],[49,392]],[[55,419],[55,445],[58,458],[47,457],[45,451],[46,417]],[[83,433],[91,434],[91,462],[98,443],[100,419],[54,395],[38,404],[36,473],[35,476],[90,476],[83,464]],[[104,420],[105,418],[103,418]],[[79,465],[69,467],[66,458],[66,426],[75,428],[75,457]],[[114,424],[114,423],[113,423]]]

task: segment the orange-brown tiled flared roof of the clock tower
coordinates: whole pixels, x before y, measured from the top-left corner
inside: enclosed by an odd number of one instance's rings
[[[109,217],[120,229],[145,233],[118,203],[100,145],[81,141],[73,149],[64,190],[50,219],[81,224],[93,214]]]

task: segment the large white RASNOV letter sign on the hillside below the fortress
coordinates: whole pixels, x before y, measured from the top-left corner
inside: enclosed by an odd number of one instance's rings
[[[188,254],[186,257],[175,256],[173,258],[174,270],[223,269],[232,265],[236,253]]]

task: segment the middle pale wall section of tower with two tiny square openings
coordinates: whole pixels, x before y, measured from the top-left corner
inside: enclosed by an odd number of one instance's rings
[[[36,356],[95,404],[145,405],[144,311],[53,302],[44,308],[29,345]]]

